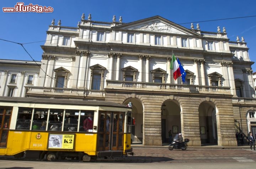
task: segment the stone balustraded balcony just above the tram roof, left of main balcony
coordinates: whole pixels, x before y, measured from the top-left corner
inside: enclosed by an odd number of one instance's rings
[[[105,92],[100,90],[36,86],[26,87],[26,89],[27,97],[105,100]]]

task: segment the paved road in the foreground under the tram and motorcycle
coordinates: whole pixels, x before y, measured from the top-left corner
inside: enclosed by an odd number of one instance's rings
[[[133,148],[134,156],[100,158],[95,162],[47,162],[23,158],[0,157],[0,169],[165,169],[165,168],[247,168],[255,167],[256,151],[246,149],[168,150],[168,148]]]

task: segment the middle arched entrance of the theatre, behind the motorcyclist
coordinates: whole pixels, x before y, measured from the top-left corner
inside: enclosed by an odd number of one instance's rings
[[[165,106],[164,106],[165,105]],[[165,107],[165,109],[164,109]],[[181,108],[175,100],[166,100],[162,104],[161,122],[162,122],[162,143],[170,142],[169,131],[171,136],[181,133]]]

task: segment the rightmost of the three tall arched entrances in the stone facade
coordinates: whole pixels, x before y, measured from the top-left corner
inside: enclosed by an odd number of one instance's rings
[[[198,107],[201,144],[218,144],[216,106],[204,101]]]

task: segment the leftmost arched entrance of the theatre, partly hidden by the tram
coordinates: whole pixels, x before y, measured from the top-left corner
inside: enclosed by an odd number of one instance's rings
[[[132,140],[133,142],[143,142],[143,112],[144,107],[142,102],[137,98],[128,98],[124,101],[124,104],[132,103]]]

